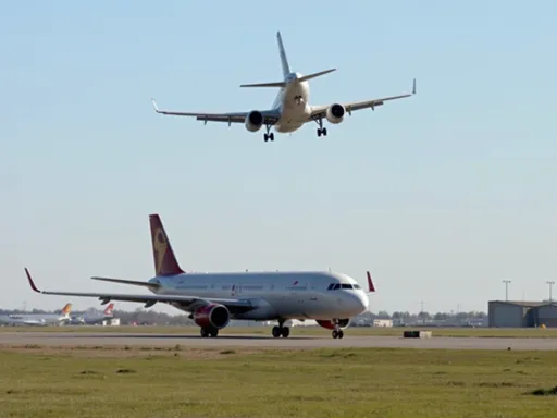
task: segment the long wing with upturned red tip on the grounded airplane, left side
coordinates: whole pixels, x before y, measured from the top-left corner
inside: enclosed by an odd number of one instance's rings
[[[30,273],[25,269],[27,280],[33,291],[41,293],[44,295],[60,295],[60,296],[79,296],[79,297],[97,297],[102,304],[108,304],[110,300],[122,300],[122,302],[136,302],[145,304],[148,308],[153,306],[158,302],[170,305],[180,305],[185,310],[193,311],[202,306],[209,305],[210,303],[224,305],[231,314],[247,312],[255,309],[250,300],[237,299],[237,298],[203,298],[198,296],[187,295],[131,295],[121,293],[81,293],[81,292],[51,292],[40,291],[33,281]]]

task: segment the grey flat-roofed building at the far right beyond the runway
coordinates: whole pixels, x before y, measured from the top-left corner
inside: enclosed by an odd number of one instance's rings
[[[557,328],[557,302],[490,300],[488,327]]]

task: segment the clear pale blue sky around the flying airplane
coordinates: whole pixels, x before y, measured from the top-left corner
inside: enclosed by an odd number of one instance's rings
[[[557,279],[557,3],[12,1],[0,7],[0,306],[141,292],[158,212],[188,270],[343,271],[371,309],[487,308]],[[311,102],[418,95],[263,143],[158,115],[268,108],[290,66]],[[555,287],[557,295],[557,286]],[[73,298],[75,308],[98,306]],[[140,305],[117,303],[134,309]],[[156,307],[159,309],[159,306]],[[164,309],[165,311],[175,310]]]

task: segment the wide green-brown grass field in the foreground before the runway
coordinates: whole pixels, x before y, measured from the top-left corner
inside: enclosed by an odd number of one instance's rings
[[[0,417],[555,417],[556,372],[552,352],[12,348]]]

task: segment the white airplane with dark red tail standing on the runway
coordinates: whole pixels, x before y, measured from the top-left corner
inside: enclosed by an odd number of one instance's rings
[[[352,278],[324,271],[210,272],[186,273],[180,267],[158,214],[150,214],[154,276],[132,281],[92,276],[112,283],[148,288],[152,294],[78,293],[39,291],[25,268],[33,291],[47,295],[97,297],[102,304],[111,300],[136,302],[151,307],[169,304],[189,314],[200,328],[202,337],[216,336],[219,330],[234,320],[276,320],[274,337],[287,337],[288,319],[313,319],[332,330],[333,339],[342,339],[351,318],[366,311],[367,293]],[[369,292],[375,292],[368,272]]]

